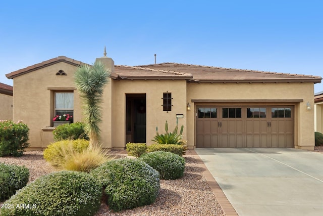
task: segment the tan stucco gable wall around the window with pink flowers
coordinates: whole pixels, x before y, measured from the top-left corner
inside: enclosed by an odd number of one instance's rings
[[[56,73],[64,70],[66,76]],[[14,121],[23,120],[30,128],[30,148],[43,148],[50,136],[44,136],[41,128],[52,126],[52,89],[73,88],[73,74],[76,66],[60,62],[14,78]],[[74,91],[74,122],[80,121],[80,104],[77,91]],[[45,139],[44,139],[45,137]],[[42,140],[44,139],[44,140]]]

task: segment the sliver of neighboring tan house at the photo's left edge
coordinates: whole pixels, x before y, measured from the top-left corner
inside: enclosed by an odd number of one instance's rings
[[[0,120],[12,120],[13,87],[0,82]]]

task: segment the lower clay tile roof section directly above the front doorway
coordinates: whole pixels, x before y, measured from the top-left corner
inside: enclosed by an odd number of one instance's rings
[[[115,73],[118,74],[120,79],[192,79],[190,73],[126,65],[116,65]]]

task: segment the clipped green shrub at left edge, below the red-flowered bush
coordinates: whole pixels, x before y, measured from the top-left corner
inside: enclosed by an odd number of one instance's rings
[[[0,163],[0,201],[10,198],[26,186],[29,170],[25,166]]]

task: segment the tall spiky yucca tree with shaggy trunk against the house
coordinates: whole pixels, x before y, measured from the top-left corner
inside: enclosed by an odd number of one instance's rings
[[[83,115],[85,117],[85,132],[89,137],[89,147],[99,146],[100,128],[98,124],[101,118],[101,103],[104,85],[107,83],[110,72],[101,62],[95,62],[92,66],[80,66],[74,75],[76,89],[80,93],[83,103]]]

